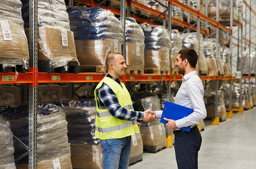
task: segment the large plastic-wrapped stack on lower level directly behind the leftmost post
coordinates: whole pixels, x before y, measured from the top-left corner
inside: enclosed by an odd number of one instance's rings
[[[70,148],[68,144],[68,122],[66,114],[53,104],[38,104],[37,108],[37,168],[72,169]],[[16,108],[3,106],[0,109],[3,117],[10,122],[10,128],[18,139],[29,144],[29,107],[22,105]],[[26,150],[14,142],[15,159],[26,153]],[[28,156],[16,162],[17,168],[28,168]]]

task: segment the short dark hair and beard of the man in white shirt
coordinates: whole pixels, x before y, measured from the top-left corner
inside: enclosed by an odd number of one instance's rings
[[[178,54],[180,54],[180,58],[182,61],[184,59],[187,59],[190,66],[196,68],[198,55],[194,49],[187,47],[180,50]]]

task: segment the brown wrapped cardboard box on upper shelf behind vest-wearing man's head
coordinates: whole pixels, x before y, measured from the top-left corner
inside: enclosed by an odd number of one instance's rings
[[[75,40],[76,54],[80,66],[105,66],[106,56],[110,53],[122,54],[120,42],[114,39]],[[115,50],[116,49],[116,50]]]

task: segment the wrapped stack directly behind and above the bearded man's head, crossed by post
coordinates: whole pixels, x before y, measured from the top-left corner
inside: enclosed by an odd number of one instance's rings
[[[208,67],[207,67],[207,60],[205,58],[205,55],[203,53],[203,35],[200,34],[200,41],[198,46],[198,40],[197,40],[197,33],[192,32],[192,33],[186,33],[186,34],[181,34],[181,40],[182,40],[182,49],[185,47],[190,47],[194,49],[198,56],[199,56],[199,65],[196,65],[196,70],[200,75],[207,75],[208,73]],[[199,49],[198,49],[199,47]],[[199,51],[199,53],[198,53]],[[199,66],[199,68],[198,68]]]

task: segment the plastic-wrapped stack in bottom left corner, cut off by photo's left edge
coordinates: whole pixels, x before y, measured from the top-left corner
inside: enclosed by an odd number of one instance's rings
[[[0,116],[0,168],[16,169],[14,163],[14,147],[10,123]]]

